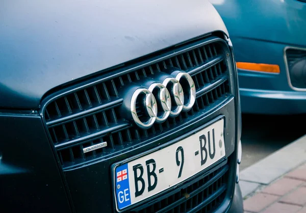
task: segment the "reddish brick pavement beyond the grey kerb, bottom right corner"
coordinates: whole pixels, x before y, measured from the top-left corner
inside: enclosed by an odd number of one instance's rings
[[[306,163],[244,200],[244,212],[306,213]]]

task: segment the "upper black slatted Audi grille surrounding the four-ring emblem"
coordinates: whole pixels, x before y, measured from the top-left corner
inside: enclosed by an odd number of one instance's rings
[[[222,39],[205,39],[188,47],[174,48],[153,59],[102,73],[77,87],[49,95],[42,115],[63,168],[145,145],[147,140],[167,134],[222,103],[231,95],[224,46],[226,43]],[[139,81],[140,77],[172,67],[192,76],[196,87],[193,108],[146,130],[126,121],[119,111],[123,102],[119,88],[124,89],[127,84]],[[83,152],[83,148],[101,142],[107,142],[107,146]]]

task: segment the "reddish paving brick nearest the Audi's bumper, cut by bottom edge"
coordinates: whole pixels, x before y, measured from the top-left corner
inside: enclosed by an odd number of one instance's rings
[[[258,193],[243,202],[244,210],[259,212],[275,202],[278,198],[275,195]]]

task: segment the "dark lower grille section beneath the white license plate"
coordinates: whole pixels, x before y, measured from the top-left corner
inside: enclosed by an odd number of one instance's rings
[[[131,210],[129,213],[208,213],[216,210],[226,196],[228,164],[206,176],[200,176],[185,187],[161,196],[153,204]],[[164,198],[165,197],[165,198]]]

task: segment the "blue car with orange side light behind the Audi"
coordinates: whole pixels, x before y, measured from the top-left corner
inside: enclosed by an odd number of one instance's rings
[[[243,113],[306,113],[306,0],[210,0],[234,46]]]

